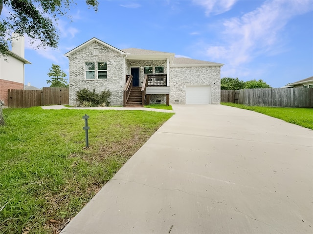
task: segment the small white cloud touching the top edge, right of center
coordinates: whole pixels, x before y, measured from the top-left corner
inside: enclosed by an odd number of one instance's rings
[[[193,0],[193,3],[205,9],[205,15],[219,15],[229,11],[237,0]]]

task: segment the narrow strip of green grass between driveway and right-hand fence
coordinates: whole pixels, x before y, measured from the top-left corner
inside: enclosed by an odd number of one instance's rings
[[[259,112],[267,116],[283,119],[289,123],[313,129],[313,108],[245,106],[229,102],[222,102],[221,104]]]

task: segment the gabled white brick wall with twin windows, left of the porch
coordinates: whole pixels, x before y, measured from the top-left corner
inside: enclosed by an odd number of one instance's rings
[[[94,55],[94,51],[97,53]],[[112,92],[111,105],[123,105],[124,57],[98,42],[93,42],[76,53],[68,56],[69,59],[69,104],[76,105],[76,92],[86,88],[97,93],[104,90]],[[107,62],[107,78],[93,80],[85,78],[85,62]]]

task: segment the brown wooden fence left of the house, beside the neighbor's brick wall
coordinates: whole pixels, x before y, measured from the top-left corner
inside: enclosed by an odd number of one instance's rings
[[[8,107],[32,107],[45,105],[64,105],[69,103],[68,88],[45,87],[43,90],[8,91]]]

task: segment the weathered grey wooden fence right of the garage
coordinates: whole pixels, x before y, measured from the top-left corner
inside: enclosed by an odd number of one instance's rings
[[[238,91],[221,90],[221,101],[235,102],[235,92]],[[313,107],[313,88],[241,89],[238,103],[247,106]]]

